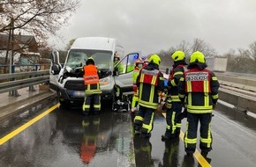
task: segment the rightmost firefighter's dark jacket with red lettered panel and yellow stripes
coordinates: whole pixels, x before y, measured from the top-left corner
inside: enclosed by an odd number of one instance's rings
[[[178,84],[179,98],[182,102],[186,98],[189,113],[212,113],[213,104],[218,100],[220,84],[215,74],[198,68],[184,72]]]

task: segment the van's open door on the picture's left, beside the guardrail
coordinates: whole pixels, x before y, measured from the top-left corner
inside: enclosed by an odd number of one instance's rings
[[[50,69],[49,69],[49,83],[50,88],[56,90],[58,74],[62,69],[62,66],[59,62],[59,54],[56,50],[52,51],[50,54]]]

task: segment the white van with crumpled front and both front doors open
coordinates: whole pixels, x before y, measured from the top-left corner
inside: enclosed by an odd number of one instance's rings
[[[121,61],[114,64],[114,54],[121,57]],[[81,69],[88,57],[93,57],[99,70],[102,99],[112,102],[116,97],[115,85],[124,93],[132,94],[132,71],[139,53],[124,55],[124,47],[116,40],[105,37],[78,38],[68,51],[64,66],[59,62],[57,51],[51,54],[49,83],[51,90],[58,94],[60,104],[71,105],[84,101],[85,85]],[[124,67],[117,71],[117,65]]]

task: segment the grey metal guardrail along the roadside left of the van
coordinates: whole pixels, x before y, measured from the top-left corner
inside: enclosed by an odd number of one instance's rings
[[[49,70],[0,75],[0,93],[49,82]],[[33,90],[33,88],[30,88]]]

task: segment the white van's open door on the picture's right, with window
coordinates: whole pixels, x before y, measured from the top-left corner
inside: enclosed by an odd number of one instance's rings
[[[127,54],[114,68],[114,79],[116,86],[123,94],[133,94],[132,91],[132,72],[135,61],[139,59],[139,53]],[[120,70],[121,69],[121,70]]]

